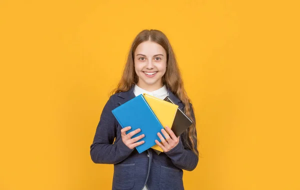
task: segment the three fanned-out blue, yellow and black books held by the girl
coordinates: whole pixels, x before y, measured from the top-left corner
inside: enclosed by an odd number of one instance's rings
[[[114,108],[112,114],[122,128],[131,126],[126,134],[140,128],[140,132],[134,134],[131,138],[140,134],[145,135],[138,140],[144,140],[144,143],[135,147],[138,153],[148,148],[153,148],[156,152],[162,152],[163,150],[156,144],[155,139],[161,142],[157,132],[160,132],[165,138],[161,132],[161,129],[165,126],[171,128],[174,134],[179,136],[192,124],[191,119],[179,109],[178,105],[174,104],[169,96],[159,99],[146,93],[137,95]]]

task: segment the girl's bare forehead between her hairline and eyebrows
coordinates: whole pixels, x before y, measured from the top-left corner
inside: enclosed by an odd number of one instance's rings
[[[156,42],[153,41],[144,41],[137,45],[134,54],[144,54],[146,56],[152,56],[155,54],[163,54],[166,52],[164,48]]]

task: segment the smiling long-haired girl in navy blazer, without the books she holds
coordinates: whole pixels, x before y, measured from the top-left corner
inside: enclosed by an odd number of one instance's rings
[[[131,138],[140,129],[126,134],[111,110],[131,98],[148,93],[163,99],[167,95],[194,122],[180,136],[166,127],[155,140],[163,152],[152,148],[138,153],[144,134]],[[96,128],[90,156],[94,163],[114,164],[112,189],[184,189],[182,169],[191,171],[198,163],[197,137],[193,106],[183,88],[174,52],[159,30],[142,30],[132,42],[117,88],[104,105]]]

